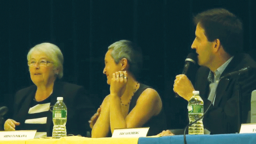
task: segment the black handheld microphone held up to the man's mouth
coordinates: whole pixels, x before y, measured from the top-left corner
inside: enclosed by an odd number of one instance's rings
[[[186,75],[191,81],[192,78],[195,78],[195,66],[197,64],[197,54],[194,52],[189,53],[189,55],[185,59],[185,65],[182,71],[182,74]],[[175,98],[178,98],[179,95],[176,93]]]

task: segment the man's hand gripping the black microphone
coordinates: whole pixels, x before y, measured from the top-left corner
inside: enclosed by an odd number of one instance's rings
[[[194,91],[194,86],[192,85],[189,78],[186,75],[177,75],[173,85],[173,91],[180,95],[182,98],[189,101],[192,97],[192,92]]]

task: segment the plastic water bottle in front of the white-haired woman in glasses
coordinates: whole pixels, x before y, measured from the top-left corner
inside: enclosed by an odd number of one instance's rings
[[[53,130],[52,138],[67,136],[67,107],[63,102],[63,97],[58,97],[52,109]]]

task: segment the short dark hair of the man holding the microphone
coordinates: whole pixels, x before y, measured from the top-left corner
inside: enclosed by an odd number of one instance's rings
[[[204,29],[207,40],[219,39],[224,51],[235,55],[243,50],[243,26],[235,14],[226,9],[210,9],[194,17],[194,23]]]

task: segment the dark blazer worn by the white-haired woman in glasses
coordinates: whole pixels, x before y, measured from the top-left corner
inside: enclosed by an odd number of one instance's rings
[[[36,89],[37,86],[32,85],[19,90],[15,94],[13,119],[20,122],[20,125],[15,127],[16,130],[26,130],[24,122],[30,104],[33,98],[35,98]],[[53,92],[50,95],[50,106],[56,103],[57,97],[63,97],[63,101],[67,106],[67,134],[85,136],[86,132],[90,131],[88,121],[94,114],[95,108],[90,102],[90,99],[85,96],[84,87],[56,80],[53,86]],[[47,116],[47,136],[52,135],[52,128],[52,113],[49,112]]]

